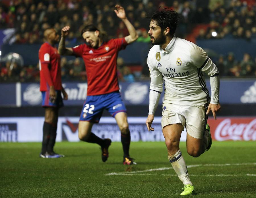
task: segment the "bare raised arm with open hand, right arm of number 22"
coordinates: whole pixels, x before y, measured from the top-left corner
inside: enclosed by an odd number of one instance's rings
[[[137,32],[133,27],[133,25],[131,24],[131,22],[129,22],[129,20],[127,19],[124,8],[121,7],[120,5],[115,5],[115,8],[116,8],[115,10],[116,16],[124,22],[130,34],[129,36],[125,37],[125,41],[128,44],[136,41],[138,38]]]

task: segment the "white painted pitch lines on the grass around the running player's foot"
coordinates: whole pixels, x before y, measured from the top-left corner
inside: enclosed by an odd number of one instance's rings
[[[193,167],[201,167],[201,166],[242,166],[242,165],[256,165],[256,163],[236,163],[236,164],[195,164],[195,165],[188,165],[187,168],[193,168]],[[113,173],[108,173],[105,174],[106,176],[108,175],[154,175],[154,174],[137,174],[137,173],[145,173],[145,172],[152,172],[152,171],[164,171],[164,170],[169,170],[172,169],[172,167],[162,167],[162,168],[157,168],[157,169],[147,169],[144,171],[131,171],[131,172],[113,172]],[[169,174],[166,174],[166,176]],[[169,175],[173,176],[173,175]],[[175,176],[177,176],[175,174]],[[191,175],[193,176],[193,175]],[[194,175],[196,176],[196,175]],[[226,176],[224,174],[218,174],[218,175],[205,175],[205,176]],[[241,176],[241,175],[227,175],[227,176]],[[246,174],[246,176],[256,176],[256,174]]]

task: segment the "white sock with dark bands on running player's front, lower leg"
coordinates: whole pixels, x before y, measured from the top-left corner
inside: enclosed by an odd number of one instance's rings
[[[178,150],[173,156],[168,155],[168,159],[171,162],[174,171],[177,173],[182,183],[184,185],[185,184],[192,185],[192,182],[189,179],[189,174],[187,172],[187,165],[185,163],[184,158],[181,155],[181,151]]]

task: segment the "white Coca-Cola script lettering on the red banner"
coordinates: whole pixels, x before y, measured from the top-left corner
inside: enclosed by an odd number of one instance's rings
[[[256,140],[256,119],[249,123],[232,123],[231,119],[225,119],[216,128],[215,139],[218,141]]]

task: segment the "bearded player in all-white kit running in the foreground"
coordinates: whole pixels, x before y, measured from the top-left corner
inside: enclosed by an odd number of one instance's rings
[[[189,155],[199,157],[210,149],[212,139],[207,117],[211,110],[216,119],[216,112],[220,110],[219,73],[202,48],[174,36],[178,20],[177,12],[166,8],[150,16],[148,34],[154,46],[147,60],[151,83],[146,125],[148,131],[154,131],[151,125],[165,82],[161,124],[168,159],[184,184],[180,195],[192,195],[195,189],[179,149],[179,141],[186,127]],[[203,72],[210,76],[211,97]]]

